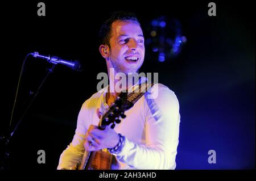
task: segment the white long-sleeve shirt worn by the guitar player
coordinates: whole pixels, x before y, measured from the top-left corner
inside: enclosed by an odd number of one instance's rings
[[[158,90],[156,90],[158,89]],[[96,110],[108,110],[105,87],[82,104],[75,136],[60,156],[57,169],[75,169],[84,154],[85,133],[98,125]],[[158,91],[155,99],[149,94]],[[151,92],[151,93],[150,93]],[[116,155],[119,169],[175,169],[179,143],[179,102],[173,91],[158,83],[151,87],[115,125],[115,132],[126,137],[121,153]]]

